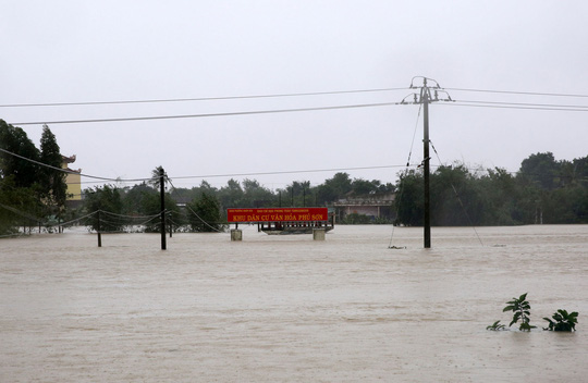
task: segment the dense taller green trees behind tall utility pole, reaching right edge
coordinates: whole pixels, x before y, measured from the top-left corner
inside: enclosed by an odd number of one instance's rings
[[[396,223],[422,225],[422,173],[401,175]],[[430,177],[432,225],[588,223],[588,157],[556,161],[551,152],[525,159],[516,174],[440,166]]]

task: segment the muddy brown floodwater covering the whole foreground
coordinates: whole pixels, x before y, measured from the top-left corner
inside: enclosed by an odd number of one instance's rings
[[[2,239],[0,381],[587,381],[588,225],[477,234]],[[487,331],[524,293],[538,329]],[[541,331],[562,308],[577,332]]]

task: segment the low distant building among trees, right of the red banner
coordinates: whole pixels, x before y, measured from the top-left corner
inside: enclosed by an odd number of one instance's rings
[[[352,213],[364,214],[370,217],[372,220],[379,218],[393,220],[392,205],[394,203],[394,194],[347,197],[338,200],[333,206],[339,220]]]

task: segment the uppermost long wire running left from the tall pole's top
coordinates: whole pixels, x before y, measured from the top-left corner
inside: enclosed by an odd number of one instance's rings
[[[151,99],[151,100],[46,102],[46,103],[7,103],[7,104],[0,104],[0,108],[71,107],[71,106],[99,106],[99,104],[124,104],[124,103],[159,103],[159,102],[185,102],[185,101],[243,100],[243,99],[255,99],[255,98],[345,95],[345,94],[392,91],[392,90],[405,90],[405,89],[407,89],[407,88],[403,87],[403,88],[380,88],[380,89],[356,89],[356,90],[313,91],[313,92],[299,92],[299,94],[248,95],[248,96],[224,96],[224,97],[199,97],[199,98],[172,98],[172,99]]]

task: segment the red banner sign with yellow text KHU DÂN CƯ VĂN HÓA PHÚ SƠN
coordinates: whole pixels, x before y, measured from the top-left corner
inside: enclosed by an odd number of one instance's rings
[[[327,208],[226,209],[229,222],[328,221]]]

